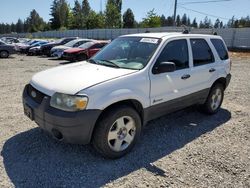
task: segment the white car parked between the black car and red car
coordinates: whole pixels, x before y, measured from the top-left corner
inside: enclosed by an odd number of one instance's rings
[[[91,39],[76,39],[76,40],[72,40],[66,43],[65,45],[55,46],[50,51],[51,56],[61,58],[64,50],[75,48],[75,47],[81,46],[84,43],[91,42],[91,41],[92,41]]]

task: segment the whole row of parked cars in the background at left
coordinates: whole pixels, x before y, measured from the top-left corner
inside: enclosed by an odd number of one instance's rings
[[[15,44],[2,41],[1,49],[5,50],[0,51],[0,57],[7,58],[10,54],[17,52],[27,55],[45,55],[68,61],[82,61],[92,57],[109,42],[78,37],[67,37],[56,41],[22,39],[22,42],[18,40]]]

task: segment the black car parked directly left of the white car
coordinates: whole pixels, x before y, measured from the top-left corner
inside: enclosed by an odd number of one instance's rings
[[[78,37],[68,37],[68,38],[62,38],[58,41],[55,42],[51,42],[45,45],[41,46],[41,54],[42,55],[47,55],[47,56],[51,56],[51,52],[50,50],[55,47],[55,46],[59,46],[59,45],[64,45],[72,40],[77,39]]]

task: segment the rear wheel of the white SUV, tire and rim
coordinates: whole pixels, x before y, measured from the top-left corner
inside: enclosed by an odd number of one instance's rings
[[[215,84],[207,97],[206,102],[201,106],[201,111],[206,114],[216,114],[223,102],[224,86],[220,83]]]

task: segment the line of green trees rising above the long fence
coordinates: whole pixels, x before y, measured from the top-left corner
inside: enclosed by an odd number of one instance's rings
[[[122,14],[122,0],[107,0],[105,10],[95,12],[88,0],[75,0],[73,8],[67,0],[54,0],[50,8],[51,19],[45,22],[44,19],[34,9],[25,19],[18,19],[16,23],[0,23],[0,33],[26,33],[49,30],[66,29],[102,29],[102,28],[149,28],[173,26],[173,16],[165,17],[158,15],[154,9],[150,10],[141,22],[135,20],[133,11],[129,8]],[[232,17],[227,23],[216,19],[214,23],[205,17],[197,23],[196,18],[192,21],[187,14],[177,15],[176,26],[187,26],[194,28],[238,28],[250,27],[250,18],[242,17],[237,19]]]

